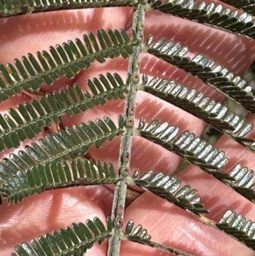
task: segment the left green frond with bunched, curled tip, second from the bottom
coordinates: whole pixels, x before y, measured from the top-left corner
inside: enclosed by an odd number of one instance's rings
[[[26,172],[18,171],[0,186],[0,193],[8,203],[13,203],[55,188],[113,184],[119,181],[112,163],[78,159],[69,165],[66,161],[53,162]]]

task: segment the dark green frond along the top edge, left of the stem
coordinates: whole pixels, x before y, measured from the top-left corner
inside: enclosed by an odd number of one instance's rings
[[[0,19],[43,11],[133,6],[136,2],[135,0],[1,0]]]

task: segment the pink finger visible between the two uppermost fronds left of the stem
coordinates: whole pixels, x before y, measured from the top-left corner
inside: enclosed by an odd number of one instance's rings
[[[20,59],[28,52],[36,55],[38,50],[48,50],[50,45],[75,40],[90,32],[96,33],[103,27],[128,27],[131,17],[130,8],[88,8],[48,11],[1,19],[0,31],[8,33],[3,33],[0,38],[0,61],[12,63],[15,57]]]

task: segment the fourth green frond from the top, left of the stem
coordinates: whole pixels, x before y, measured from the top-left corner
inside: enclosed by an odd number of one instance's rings
[[[46,165],[75,159],[87,153],[89,147],[101,147],[103,142],[123,132],[124,120],[119,116],[119,128],[109,117],[105,117],[105,121],[96,119],[96,123],[89,121],[88,124],[75,125],[73,129],[66,127],[65,130],[59,130],[59,133],[47,134],[46,139],[40,139],[39,143],[32,142],[31,146],[25,146],[25,151],[11,153],[10,158],[3,159],[0,163],[0,182],[8,183],[13,176],[22,179],[24,176],[20,172],[39,174],[40,169]]]

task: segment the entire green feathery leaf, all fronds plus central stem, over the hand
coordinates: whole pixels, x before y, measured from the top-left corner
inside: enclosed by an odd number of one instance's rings
[[[233,0],[231,4],[251,13],[255,10],[254,0]],[[20,147],[20,141],[34,139],[36,134],[41,133],[43,128],[49,127],[53,122],[61,124],[63,114],[80,114],[89,108],[105,104],[106,100],[124,100],[124,94],[128,94],[124,116],[119,116],[118,127],[108,117],[105,117],[104,121],[96,119],[95,122],[81,123],[73,128],[66,127],[57,133],[47,133],[38,143],[33,142],[25,146],[18,154],[11,153],[9,158],[4,158],[0,163],[0,193],[8,203],[19,202],[35,193],[57,188],[92,184],[117,186],[112,218],[108,218],[107,228],[98,218],[94,218],[93,222],[88,220],[87,225],[74,223],[72,227],[54,231],[52,234],[47,233],[38,239],[31,239],[30,243],[24,242],[16,246],[20,256],[82,256],[94,243],[101,244],[106,238],[110,238],[110,247],[114,245],[108,255],[119,255],[120,239],[128,239],[175,255],[194,256],[151,241],[150,235],[142,225],[133,229],[132,220],[128,222],[126,232],[122,232],[126,198],[124,193],[129,183],[145,188],[195,214],[201,221],[206,218],[201,213],[208,213],[200,202],[201,198],[196,195],[198,190],[191,189],[189,185],[181,187],[180,179],[164,172],[154,173],[152,170],[140,177],[138,171],[133,177],[129,176],[133,134],[182,156],[255,202],[254,171],[238,163],[230,172],[222,172],[228,158],[224,152],[213,148],[205,140],[189,131],[179,135],[179,126],[170,126],[167,122],[159,124],[157,119],[145,127],[146,121],[142,118],[138,129],[134,128],[136,90],[143,89],[200,117],[220,132],[229,135],[231,139],[254,151],[254,139],[244,137],[252,130],[252,124],[221,103],[174,80],[154,77],[147,84],[147,76],[144,75],[142,84],[139,84],[140,54],[144,51],[191,73],[223,93],[226,98],[255,113],[252,87],[241,77],[236,77],[223,66],[215,66],[215,62],[203,54],[198,54],[192,59],[186,57],[188,47],[182,47],[180,43],[167,41],[165,38],[152,43],[153,36],[149,36],[145,44],[142,41],[147,10],[163,11],[240,36],[255,38],[252,15],[245,12],[238,15],[237,10],[231,11],[230,8],[223,8],[221,4],[215,6],[214,3],[205,4],[204,1],[197,4],[194,0],[167,0],[164,3],[158,0],[0,0],[0,18],[43,11],[108,6],[133,6],[135,15],[131,36],[128,36],[124,29],[108,29],[107,33],[100,29],[96,36],[92,33],[84,35],[83,41],[68,41],[62,43],[62,46],[50,47],[49,52],[38,52],[37,56],[28,54],[21,60],[15,59],[14,65],[0,64],[0,102],[3,102],[23,92],[33,94],[34,91],[39,91],[42,85],[51,86],[61,76],[73,79],[94,61],[104,63],[106,58],[118,56],[129,58],[126,84],[119,75],[107,73],[106,77],[99,75],[99,79],[87,81],[92,93],[83,91],[78,85],[68,86],[66,90],[47,93],[39,100],[19,103],[18,110],[10,108],[9,114],[0,115],[0,151],[3,151],[6,148]],[[84,158],[89,147],[101,147],[103,142],[118,135],[122,135],[122,142],[117,175],[112,163],[94,163]],[[246,222],[242,215],[237,216],[229,210],[219,223],[212,220],[205,223],[237,237],[239,241],[255,250],[255,223]],[[12,255],[17,256],[16,253]]]

